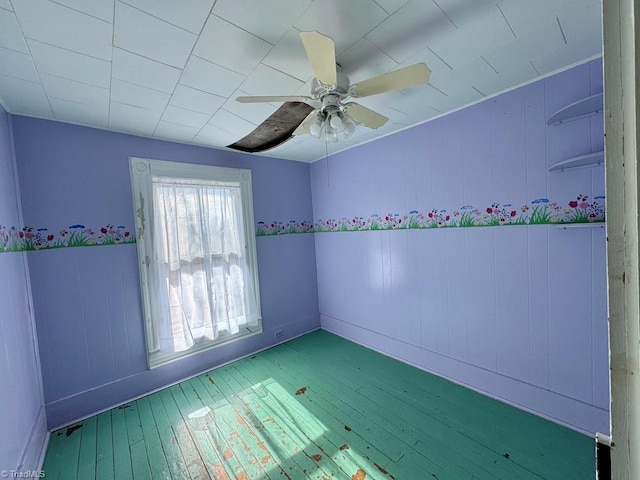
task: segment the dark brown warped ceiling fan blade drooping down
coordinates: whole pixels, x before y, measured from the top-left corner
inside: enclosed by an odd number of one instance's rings
[[[290,140],[293,131],[313,112],[313,107],[301,102],[285,102],[274,114],[244,138],[227,148],[241,152],[263,152]]]

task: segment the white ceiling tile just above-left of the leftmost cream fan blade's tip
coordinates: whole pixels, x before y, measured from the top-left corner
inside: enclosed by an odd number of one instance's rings
[[[180,83],[197,90],[228,97],[245,79],[244,75],[191,55]]]

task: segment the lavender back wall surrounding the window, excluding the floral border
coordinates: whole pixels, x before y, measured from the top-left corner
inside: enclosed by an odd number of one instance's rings
[[[312,218],[309,165],[14,117],[26,225],[134,225],[129,156],[250,168],[256,221]],[[319,327],[314,238],[257,239],[264,333],[146,369],[135,244],[28,254],[50,427]]]

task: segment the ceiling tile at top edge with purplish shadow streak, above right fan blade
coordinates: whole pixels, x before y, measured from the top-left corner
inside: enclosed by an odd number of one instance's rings
[[[435,3],[412,0],[368,33],[367,39],[402,63],[454,29]]]

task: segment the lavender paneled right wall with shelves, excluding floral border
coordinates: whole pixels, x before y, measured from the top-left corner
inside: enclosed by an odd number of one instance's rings
[[[604,195],[600,61],[312,164],[314,220]],[[329,181],[328,181],[329,179]],[[553,204],[552,202],[556,202]],[[535,204],[535,202],[534,202]],[[577,207],[580,208],[580,207]],[[529,212],[530,213],[530,212]],[[582,431],[608,432],[605,231],[551,225],[316,233],[322,327]]]

